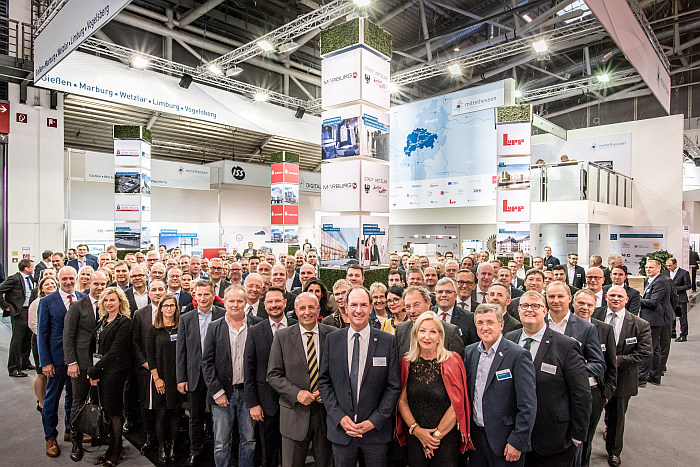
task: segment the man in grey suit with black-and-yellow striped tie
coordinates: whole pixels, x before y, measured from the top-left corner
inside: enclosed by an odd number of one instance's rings
[[[316,320],[318,307],[315,295],[300,294],[295,302],[299,324],[276,333],[270,350],[267,382],[279,395],[283,467],[306,465],[309,443],[316,465],[333,465],[318,372],[326,336],[336,328]]]

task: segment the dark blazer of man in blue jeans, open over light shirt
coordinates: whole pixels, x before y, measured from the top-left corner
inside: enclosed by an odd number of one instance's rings
[[[247,333],[260,321],[262,320],[257,316],[246,315]],[[243,365],[243,373],[245,381],[245,364]],[[231,397],[233,394],[233,358],[225,316],[209,324],[207,337],[204,338],[204,349],[202,349],[202,375],[204,382],[207,383],[209,404],[215,404],[214,394],[222,389],[226,397]]]

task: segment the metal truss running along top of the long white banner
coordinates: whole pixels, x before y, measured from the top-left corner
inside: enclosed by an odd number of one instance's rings
[[[242,81],[237,81],[235,79],[227,78],[225,76],[216,76],[211,73],[202,73],[197,68],[183,65],[181,63],[176,63],[171,60],[166,60],[164,58],[155,57],[153,55],[143,54],[133,49],[123,47],[121,45],[116,45],[111,42],[102,41],[91,37],[83,42],[80,50],[91,52],[96,55],[107,56],[111,58],[116,58],[120,61],[131,61],[135,56],[143,57],[148,60],[148,69],[158,71],[164,74],[171,74],[174,76],[182,76],[183,74],[188,74],[192,76],[192,80],[215,86],[218,88],[226,89],[237,94],[243,94],[250,97],[255,97],[257,94],[267,94],[268,102],[274,104],[279,104],[283,106],[289,106],[292,108],[303,107],[309,113],[315,110],[313,106],[313,101],[304,101],[296,97],[291,97],[286,94],[279,92],[270,91],[258,86],[253,86],[252,84],[244,83]],[[319,107],[320,108],[320,107]],[[316,110],[318,112],[318,110]]]

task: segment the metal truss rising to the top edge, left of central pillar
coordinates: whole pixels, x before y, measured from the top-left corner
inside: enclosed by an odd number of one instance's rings
[[[217,66],[220,70],[226,70],[232,65],[244,62],[250,58],[263,53],[258,43],[266,41],[272,47],[277,48],[285,43],[291,42],[293,39],[303,36],[304,34],[313,31],[314,29],[323,27],[333,21],[343,18],[356,11],[355,5],[348,0],[334,0],[327,3],[317,10],[298,17],[284,26],[275,29],[272,32],[265,34],[258,39],[248,42],[241,47],[232,50],[231,52],[222,55],[221,57],[212,60],[207,65],[200,66],[203,72],[209,72],[206,67],[210,65]],[[206,71],[205,71],[206,70]],[[211,72],[209,72],[211,73]]]

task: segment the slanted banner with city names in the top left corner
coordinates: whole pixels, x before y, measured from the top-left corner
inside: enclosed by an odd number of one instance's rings
[[[131,0],[68,0],[34,39],[34,82],[107,24]]]

